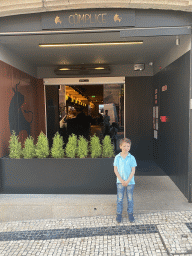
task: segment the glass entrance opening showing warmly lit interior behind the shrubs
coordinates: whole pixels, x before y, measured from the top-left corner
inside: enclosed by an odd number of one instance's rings
[[[97,78],[102,83],[102,78]],[[115,151],[124,137],[124,86],[119,83],[46,85],[47,137],[50,146],[58,131],[65,144],[72,133],[100,140],[110,135]]]

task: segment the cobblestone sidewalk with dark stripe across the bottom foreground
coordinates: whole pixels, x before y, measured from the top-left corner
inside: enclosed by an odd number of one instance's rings
[[[0,223],[0,256],[192,255],[192,211]]]

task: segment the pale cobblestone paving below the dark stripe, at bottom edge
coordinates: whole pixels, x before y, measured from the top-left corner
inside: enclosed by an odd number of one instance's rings
[[[167,255],[157,233],[0,242],[0,255]],[[42,253],[42,254],[41,254]]]

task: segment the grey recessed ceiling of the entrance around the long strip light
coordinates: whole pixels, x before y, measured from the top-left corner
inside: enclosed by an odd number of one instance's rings
[[[185,36],[182,36],[183,38]],[[110,42],[143,40],[143,45],[40,48],[41,43]],[[175,36],[120,38],[119,32],[0,36],[0,43],[36,67],[64,64],[125,65],[155,62],[175,45]]]

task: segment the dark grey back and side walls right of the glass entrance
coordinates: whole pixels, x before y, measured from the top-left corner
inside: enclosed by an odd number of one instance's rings
[[[153,159],[189,199],[189,90],[188,52],[154,77],[126,78],[126,136],[137,159]],[[167,90],[162,87],[167,85]],[[158,138],[153,134],[153,106],[158,91]],[[161,116],[168,117],[166,122]]]

